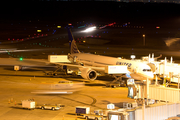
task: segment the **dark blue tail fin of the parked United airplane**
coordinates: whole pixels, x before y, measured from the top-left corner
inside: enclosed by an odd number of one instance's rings
[[[80,53],[80,51],[78,50],[78,47],[76,45],[76,42],[74,40],[74,37],[72,35],[71,30],[69,28],[67,30],[68,30],[69,46],[70,46],[71,54],[73,54],[73,53]]]

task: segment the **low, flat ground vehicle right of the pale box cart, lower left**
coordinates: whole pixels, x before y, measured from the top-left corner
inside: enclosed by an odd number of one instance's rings
[[[42,110],[44,109],[49,109],[49,110],[60,110],[64,107],[64,105],[61,104],[55,104],[55,105],[51,105],[51,104],[43,104],[43,105],[38,105],[36,106],[36,108],[40,108]]]

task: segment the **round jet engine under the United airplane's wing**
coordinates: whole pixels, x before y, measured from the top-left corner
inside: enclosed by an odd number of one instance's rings
[[[97,78],[97,72],[90,68],[80,68],[81,76],[87,80],[95,80]]]

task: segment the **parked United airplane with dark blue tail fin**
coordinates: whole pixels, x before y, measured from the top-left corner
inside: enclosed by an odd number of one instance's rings
[[[129,77],[133,79],[146,80],[147,78],[154,78],[151,67],[147,65],[147,63],[136,60],[119,59],[115,57],[81,53],[78,50],[70,29],[68,29],[68,37],[70,45],[70,54],[68,55],[68,59],[71,61],[71,64],[55,64],[67,66],[68,69],[77,68],[76,70],[81,71],[81,76],[84,79],[95,80],[98,76],[98,73],[105,73],[105,67],[108,65],[127,66],[128,72],[126,73],[126,76],[130,75]],[[116,74],[115,76],[122,76],[122,74]]]

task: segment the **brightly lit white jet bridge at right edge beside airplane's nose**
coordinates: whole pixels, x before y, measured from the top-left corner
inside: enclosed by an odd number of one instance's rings
[[[149,55],[149,57],[142,57],[142,60],[146,61],[147,64],[151,67],[152,71],[157,77],[156,80],[161,79],[164,85],[166,82],[168,82],[166,86],[168,86],[171,82],[180,82],[180,64],[174,63],[172,57],[170,60],[165,57],[164,60],[157,61],[157,58],[154,58],[154,55],[152,55],[152,57]]]

